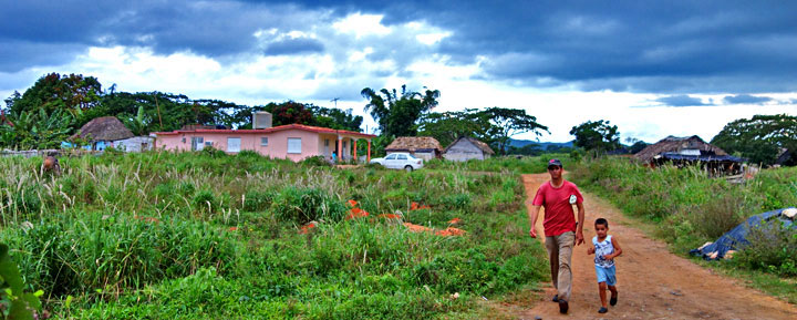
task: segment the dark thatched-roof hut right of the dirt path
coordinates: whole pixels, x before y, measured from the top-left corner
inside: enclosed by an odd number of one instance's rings
[[[665,163],[679,167],[700,165],[713,174],[735,174],[742,169],[744,158],[728,155],[722,148],[706,143],[700,136],[667,136],[655,144],[649,145],[633,155],[651,167]]]

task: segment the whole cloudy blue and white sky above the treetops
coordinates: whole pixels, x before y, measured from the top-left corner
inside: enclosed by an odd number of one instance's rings
[[[49,72],[105,89],[363,114],[363,87],[442,92],[436,111],[521,107],[572,140],[711,140],[797,115],[797,1],[4,1],[0,97]],[[374,126],[366,116],[369,131]],[[519,138],[532,138],[520,135]]]

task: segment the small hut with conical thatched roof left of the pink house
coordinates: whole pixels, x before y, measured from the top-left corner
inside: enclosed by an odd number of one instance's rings
[[[89,123],[84,124],[77,133],[72,135],[69,140],[74,141],[75,138],[85,140],[89,142],[89,148],[92,151],[102,151],[110,146],[117,146],[118,142],[134,137],[131,132],[122,122],[115,116],[101,116],[92,118]],[[71,146],[71,143],[62,143],[63,146]]]

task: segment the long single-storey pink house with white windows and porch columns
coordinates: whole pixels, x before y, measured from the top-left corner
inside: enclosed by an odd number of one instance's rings
[[[366,162],[371,161],[372,134],[345,130],[288,124],[255,130],[178,130],[155,132],[155,148],[198,151],[205,146],[236,154],[244,149],[255,151],[272,158],[289,158],[294,162],[311,156],[350,161],[356,158],[358,141],[368,143]]]

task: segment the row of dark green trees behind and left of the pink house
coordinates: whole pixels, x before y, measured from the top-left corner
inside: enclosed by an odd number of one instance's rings
[[[362,116],[351,110],[327,109],[293,101],[247,106],[220,100],[192,100],[163,92],[108,92],[96,78],[50,73],[0,107],[13,125],[0,124],[0,147],[52,148],[100,116],[120,118],[134,134],[174,131],[188,124],[251,127],[255,111],[273,114],[273,125],[301,123],[360,131]]]

